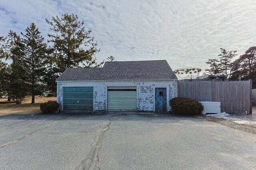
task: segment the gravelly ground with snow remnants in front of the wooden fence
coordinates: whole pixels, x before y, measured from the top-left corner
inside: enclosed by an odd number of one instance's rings
[[[216,118],[205,115],[198,115],[197,117],[208,121],[214,121],[233,129],[256,134],[256,106],[252,108],[251,115],[230,114],[225,118]]]

